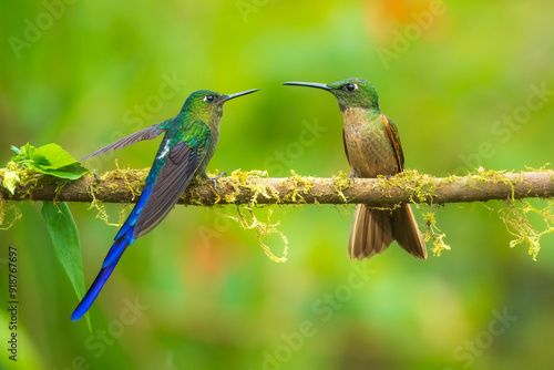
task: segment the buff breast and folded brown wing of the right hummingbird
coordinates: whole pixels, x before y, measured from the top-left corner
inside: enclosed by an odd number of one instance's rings
[[[384,129],[387,117],[381,112],[347,109],[343,117],[345,150],[358,177],[387,176],[400,172],[394,147]]]

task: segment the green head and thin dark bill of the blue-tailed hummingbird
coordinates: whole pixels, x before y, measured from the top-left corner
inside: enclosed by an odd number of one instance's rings
[[[252,94],[258,89],[243,91],[236,94],[225,95],[215,91],[198,90],[193,92],[186,99],[181,112],[187,112],[194,117],[197,117],[206,123],[218,120],[223,114],[223,104],[232,99]]]

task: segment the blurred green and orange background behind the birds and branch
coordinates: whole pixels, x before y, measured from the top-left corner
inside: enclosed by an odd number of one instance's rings
[[[10,145],[27,142],[55,142],[82,157],[174,116],[193,91],[258,88],[226,104],[208,169],[328,177],[349,171],[335,99],[280,83],[351,76],[377,86],[408,168],[441,176],[552,161],[551,1],[50,0],[2,8],[3,163]],[[315,125],[312,136],[302,133]],[[147,167],[157,143],[85,165],[105,172],[117,158],[122,167]],[[7,248],[14,245],[19,358],[7,359],[2,309],[0,367],[551,369],[554,238],[542,239],[537,261],[524,245],[511,249],[502,204],[439,208],[452,247],[440,257],[416,260],[394,244],[363,264],[346,253],[353,207],[274,207],[290,243],[288,261],[276,264],[254,232],[218,215],[236,214],[233,207],[177,206],[127,250],[91,309],[92,333],[84,320],[70,320],[78,299],[41,204],[18,204],[23,218],[0,232],[0,298],[8,301]],[[88,204],[70,207],[90,286],[117,229]],[[116,223],[117,206],[106,208]],[[279,255],[281,243],[269,241]]]

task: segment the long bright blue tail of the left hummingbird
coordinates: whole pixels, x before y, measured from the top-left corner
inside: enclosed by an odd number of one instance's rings
[[[92,302],[94,302],[94,299],[96,299],[100,290],[102,290],[105,281],[120,261],[121,256],[123,256],[125,249],[135,241],[133,237],[134,226],[136,224],[138,214],[144,207],[144,204],[146,203],[148,196],[152,194],[152,183],[146,185],[141,194],[141,198],[136,203],[136,206],[133,208],[127,219],[125,220],[125,224],[123,224],[117,235],[115,236],[112,248],[107,253],[104,263],[102,264],[102,269],[94,279],[92,286],[89,288],[89,291],[86,291],[86,294],[84,295],[84,298],[71,315],[71,319],[73,321],[82,318],[83,315],[89,310],[89,308],[91,308]]]

